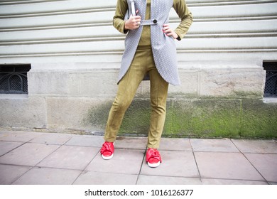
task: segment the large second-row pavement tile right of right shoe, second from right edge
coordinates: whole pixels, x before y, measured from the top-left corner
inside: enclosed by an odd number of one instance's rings
[[[264,181],[240,153],[195,152],[201,178]]]

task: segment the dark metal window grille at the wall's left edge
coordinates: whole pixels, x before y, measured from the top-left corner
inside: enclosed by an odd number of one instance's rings
[[[0,65],[0,93],[28,93],[27,72],[31,65]]]

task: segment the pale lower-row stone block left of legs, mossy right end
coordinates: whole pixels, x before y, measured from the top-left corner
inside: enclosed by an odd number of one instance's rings
[[[46,103],[48,128],[89,131],[103,131],[112,106],[109,99],[89,97],[47,97]],[[91,114],[91,109],[97,114]]]

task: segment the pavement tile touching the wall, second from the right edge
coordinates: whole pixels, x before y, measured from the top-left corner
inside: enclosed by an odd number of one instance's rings
[[[193,151],[239,152],[229,139],[190,139]]]

